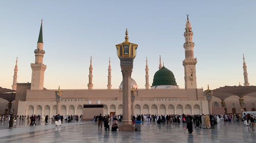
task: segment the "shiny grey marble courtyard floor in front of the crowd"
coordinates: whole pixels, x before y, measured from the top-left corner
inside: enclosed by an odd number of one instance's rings
[[[221,122],[217,129],[194,128],[192,134],[182,124],[149,122],[135,132],[105,131],[93,122],[63,123],[57,127],[52,123],[31,127],[17,123],[12,129],[7,124],[0,122],[0,142],[256,142],[255,130],[233,122]]]

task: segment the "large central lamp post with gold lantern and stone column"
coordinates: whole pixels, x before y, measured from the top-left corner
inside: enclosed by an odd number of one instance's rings
[[[132,131],[131,126],[131,75],[133,60],[136,56],[137,44],[130,43],[126,28],[125,41],[116,45],[123,77],[123,120],[119,130]]]

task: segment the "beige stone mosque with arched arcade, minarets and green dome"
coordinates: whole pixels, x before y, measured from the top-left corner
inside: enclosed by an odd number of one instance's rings
[[[126,31],[127,32],[127,31]],[[127,36],[127,35],[126,35]],[[197,88],[196,64],[194,58],[193,31],[188,19],[184,32],[185,49],[184,80],[185,89],[180,89],[177,85],[175,75],[159,60],[159,70],[156,71],[152,85],[149,83],[147,59],[145,61],[145,89],[139,89],[134,79],[131,81],[131,90],[136,91],[134,101],[134,114],[208,114],[210,112],[208,101],[203,89]],[[125,39],[128,37],[125,37]],[[13,90],[16,90],[14,113],[17,115],[55,115],[57,103],[55,93],[57,90],[47,90],[44,88],[44,72],[47,66],[44,64],[44,43],[42,40],[42,22],[34,50],[35,62],[31,64],[31,83],[16,83],[17,81],[17,61],[13,76]],[[244,65],[246,70],[246,65]],[[245,78],[247,72],[244,73]],[[245,79],[246,80],[246,79]],[[122,82],[119,89],[112,89],[111,82],[111,61],[108,68],[108,85],[105,90],[93,89],[93,61],[90,59],[89,83],[87,90],[65,90],[61,89],[61,99],[59,102],[61,115],[82,115],[84,104],[102,104],[103,114],[122,114]],[[248,77],[245,85],[249,85]],[[60,89],[59,89],[60,90]],[[213,97],[212,104],[214,110],[224,111],[222,107],[216,109],[217,102],[220,105],[220,98]],[[253,98],[255,104],[255,98]],[[237,104],[237,97],[234,97]]]

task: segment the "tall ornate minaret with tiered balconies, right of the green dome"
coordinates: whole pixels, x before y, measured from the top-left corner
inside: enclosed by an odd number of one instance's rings
[[[185,73],[185,89],[197,89],[197,77],[196,77],[196,64],[197,59],[194,59],[194,42],[192,41],[193,32],[191,24],[188,20],[184,32],[185,43],[183,47],[185,49],[185,60],[183,61],[184,73]]]

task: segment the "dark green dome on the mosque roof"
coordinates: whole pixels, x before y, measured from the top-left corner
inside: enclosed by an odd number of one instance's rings
[[[157,85],[177,85],[173,72],[164,66],[159,69],[154,75],[152,87]]]

